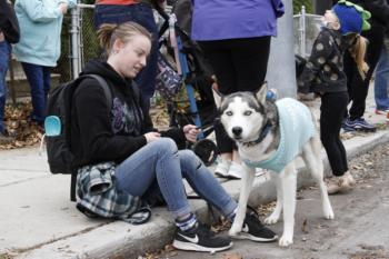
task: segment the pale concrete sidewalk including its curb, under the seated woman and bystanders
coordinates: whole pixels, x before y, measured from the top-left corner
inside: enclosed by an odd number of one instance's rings
[[[372,88],[371,88],[372,89]],[[307,102],[319,113],[318,100]],[[385,117],[376,116],[369,93],[366,119],[387,129]],[[349,159],[378,145],[389,142],[388,130],[375,133],[347,133]],[[322,152],[326,169],[328,162]],[[38,148],[0,151],[0,258],[138,258],[162,248],[172,239],[174,225],[166,208],[153,210],[150,222],[131,226],[121,221],[91,220],[77,211],[69,200],[70,177],[49,172],[46,153]],[[312,181],[299,166],[299,185]],[[222,180],[223,187],[238,197],[239,180]],[[276,190],[267,176],[256,178],[250,203],[273,200]],[[260,186],[260,188],[258,188]],[[191,200],[200,218],[207,217],[203,201]],[[276,246],[269,243],[266,246]]]

